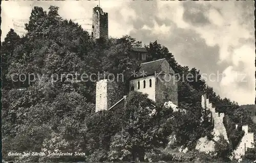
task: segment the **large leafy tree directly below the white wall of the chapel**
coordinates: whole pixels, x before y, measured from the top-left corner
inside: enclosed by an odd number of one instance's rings
[[[154,118],[151,113],[154,104],[147,95],[131,91],[126,97],[123,114],[120,115],[121,131],[111,142],[110,157],[114,160],[121,158],[144,159],[145,152],[153,148],[157,130],[154,128]]]

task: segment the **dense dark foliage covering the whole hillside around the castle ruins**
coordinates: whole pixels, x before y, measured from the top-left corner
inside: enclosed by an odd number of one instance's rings
[[[210,137],[212,129],[208,113],[204,114],[201,108],[205,82],[196,68],[179,65],[166,47],[157,41],[145,45],[150,56],[148,61],[166,58],[177,76],[194,75],[193,80],[178,83],[179,107],[186,112],[173,112],[147,99],[146,95],[132,91],[123,108],[92,115],[96,83],[70,78],[67,74],[122,73],[125,82],[139,64],[129,51],[132,46],[142,46],[141,42],[130,36],[93,41],[81,26],[62,19],[54,6],[48,13],[34,7],[26,30],[27,34],[19,37],[11,29],[2,43],[4,158],[23,162],[144,161],[146,155],[156,161],[217,159],[194,150],[197,139]],[[14,89],[14,73],[35,74],[36,80],[27,89]],[[60,78],[60,74],[66,76]],[[226,128],[231,129],[239,122],[237,117],[242,116],[242,123],[251,124],[249,113],[237,103],[221,99],[211,87],[207,87],[206,92],[216,108],[226,113],[229,119]],[[156,113],[152,115],[154,109]],[[240,134],[236,137],[240,131],[228,132],[234,147],[241,138]],[[169,147],[170,135],[175,135],[176,141]],[[222,148],[222,143],[217,148]],[[180,152],[170,152],[182,145],[189,148],[187,154],[179,156]],[[163,150],[166,147],[169,152]],[[24,151],[75,151],[85,155],[7,156],[8,152]],[[156,157],[156,153],[160,156]]]

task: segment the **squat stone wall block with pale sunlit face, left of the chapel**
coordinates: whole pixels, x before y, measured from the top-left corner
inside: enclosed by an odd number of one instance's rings
[[[124,86],[115,81],[103,79],[96,84],[96,109],[107,110],[123,98]]]

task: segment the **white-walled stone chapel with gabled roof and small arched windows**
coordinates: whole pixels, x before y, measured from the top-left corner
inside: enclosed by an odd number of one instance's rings
[[[130,90],[140,91],[155,101],[172,101],[178,105],[178,83],[166,59],[141,63],[130,79]]]

